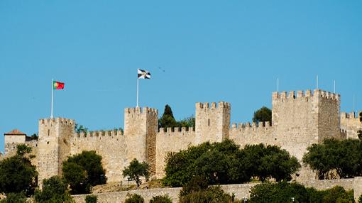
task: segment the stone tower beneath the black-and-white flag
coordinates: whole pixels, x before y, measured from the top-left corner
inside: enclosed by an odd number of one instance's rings
[[[124,110],[124,135],[127,144],[127,159],[146,161],[151,175],[155,174],[156,135],[158,133],[158,110],[148,107]]]

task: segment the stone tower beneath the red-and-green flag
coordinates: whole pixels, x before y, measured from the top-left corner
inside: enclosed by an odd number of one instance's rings
[[[38,185],[45,178],[62,174],[62,162],[70,155],[70,137],[75,131],[71,119],[40,119],[38,138]]]

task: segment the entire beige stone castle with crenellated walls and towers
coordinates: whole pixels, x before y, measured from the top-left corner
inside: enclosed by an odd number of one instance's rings
[[[231,104],[196,103],[195,128],[173,129],[158,129],[157,109],[126,108],[124,133],[112,130],[78,134],[72,119],[40,119],[38,141],[27,141],[24,134],[5,134],[6,155],[13,154],[18,143],[32,146],[40,183],[45,178],[61,175],[62,162],[83,150],[95,150],[102,155],[109,182],[124,180],[122,170],[133,158],[148,162],[153,177],[163,177],[169,151],[226,138],[242,147],[257,143],[280,146],[302,160],[307,147],[321,143],[324,138],[357,138],[357,131],[362,129],[361,114],[341,113],[340,102],[339,94],[321,89],[297,91],[297,94],[273,92],[271,124],[238,125],[230,124]],[[303,167],[295,178],[311,179],[314,174]]]

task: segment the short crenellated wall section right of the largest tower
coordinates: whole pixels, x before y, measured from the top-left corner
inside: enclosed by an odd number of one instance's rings
[[[357,116],[354,112],[341,113],[341,129],[346,132],[347,138],[358,139],[357,132],[362,131],[361,113],[362,111],[358,111]]]

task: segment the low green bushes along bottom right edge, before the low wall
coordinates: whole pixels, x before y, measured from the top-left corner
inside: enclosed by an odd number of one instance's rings
[[[353,202],[353,190],[336,186],[329,190],[315,190],[292,182],[265,182],[251,188],[248,202]]]

